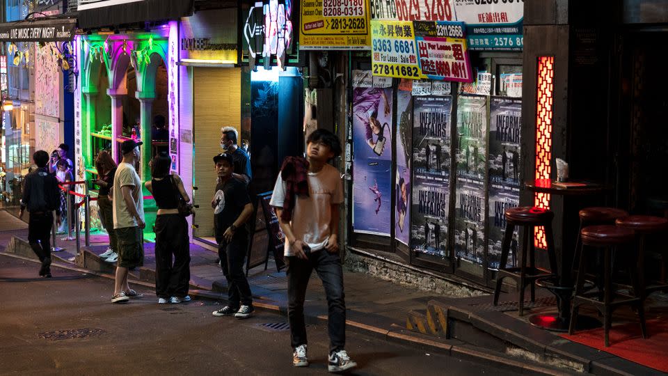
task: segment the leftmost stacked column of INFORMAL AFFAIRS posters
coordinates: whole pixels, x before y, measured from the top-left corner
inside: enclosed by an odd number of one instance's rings
[[[447,257],[452,97],[413,98],[411,249]]]

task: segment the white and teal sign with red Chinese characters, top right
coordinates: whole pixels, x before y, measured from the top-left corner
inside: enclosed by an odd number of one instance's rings
[[[522,51],[524,1],[453,0],[457,21],[466,22],[470,49]]]

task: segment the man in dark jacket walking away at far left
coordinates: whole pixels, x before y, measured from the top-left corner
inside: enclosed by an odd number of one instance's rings
[[[58,179],[47,170],[49,154],[38,150],[33,154],[33,162],[38,168],[26,176],[19,218],[23,217],[27,207],[30,213],[28,242],[42,263],[40,276],[50,278],[51,228],[54,224],[54,211],[57,224],[60,225],[61,222],[61,194]]]

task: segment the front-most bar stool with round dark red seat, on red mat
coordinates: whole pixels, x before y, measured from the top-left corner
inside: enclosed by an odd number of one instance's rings
[[[632,276],[633,295],[619,292],[618,283],[612,282],[612,249],[620,249],[621,246],[633,244],[635,234],[633,230],[620,226],[602,225],[588,226],[580,231],[582,237],[582,252],[580,253],[580,263],[578,267],[578,279],[575,282],[575,297],[573,297],[573,307],[571,308],[571,324],[568,327],[568,334],[573,334],[575,323],[578,319],[578,310],[582,304],[592,304],[603,315],[603,330],[605,347],[610,346],[610,327],[612,327],[612,311],[618,306],[635,306],[638,310],[640,319],[640,329],[642,338],[646,338],[645,313],[642,306],[642,296],[639,295],[639,279]],[[603,249],[604,267],[603,267],[603,301],[601,301],[598,292],[584,292],[584,275],[586,265],[584,260],[584,246],[589,249]],[[637,270],[637,272],[641,272]],[[617,300],[616,298],[621,298]]]

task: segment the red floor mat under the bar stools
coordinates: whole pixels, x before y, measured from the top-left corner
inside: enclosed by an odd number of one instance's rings
[[[623,359],[668,373],[668,320],[648,320],[649,338],[640,336],[640,323],[631,322],[610,329],[610,347],[603,345],[603,328],[577,331],[562,337]]]

